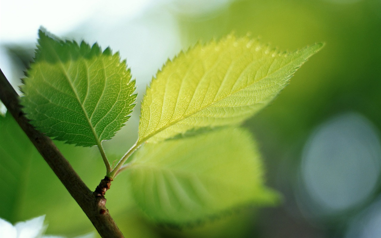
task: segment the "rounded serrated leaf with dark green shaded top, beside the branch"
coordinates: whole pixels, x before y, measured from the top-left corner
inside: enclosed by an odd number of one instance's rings
[[[39,31],[35,62],[21,87],[37,129],[70,144],[111,139],[128,120],[136,94],[126,62],[107,48],[62,41]]]

